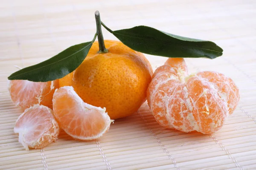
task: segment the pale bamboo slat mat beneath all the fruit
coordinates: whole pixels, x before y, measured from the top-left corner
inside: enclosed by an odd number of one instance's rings
[[[0,169],[256,169],[255,9],[255,0],[1,0]],[[22,112],[10,100],[7,77],[14,65],[26,67],[92,40],[96,10],[113,30],[146,25],[220,45],[222,57],[186,62],[190,72],[219,71],[239,86],[239,107],[224,127],[212,135],[166,130],[145,103],[97,141],[74,140],[62,131],[44,149],[24,150],[13,133]],[[154,69],[166,60],[146,57]]]

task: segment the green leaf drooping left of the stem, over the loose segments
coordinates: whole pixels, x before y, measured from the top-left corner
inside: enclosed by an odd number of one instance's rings
[[[60,79],[78,68],[87,56],[94,40],[73,45],[50,59],[16,71],[8,79],[23,79],[33,82]]]

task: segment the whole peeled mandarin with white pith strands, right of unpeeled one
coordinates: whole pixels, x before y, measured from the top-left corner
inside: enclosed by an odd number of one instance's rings
[[[156,121],[166,128],[211,134],[236,109],[239,89],[224,74],[203,71],[188,76],[183,58],[169,58],[154,72],[147,90]]]

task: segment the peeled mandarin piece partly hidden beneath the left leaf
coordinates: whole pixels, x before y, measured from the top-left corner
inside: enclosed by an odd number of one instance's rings
[[[36,104],[52,108],[52,96],[56,88],[58,88],[58,80],[49,82],[9,81],[11,99],[23,111]]]

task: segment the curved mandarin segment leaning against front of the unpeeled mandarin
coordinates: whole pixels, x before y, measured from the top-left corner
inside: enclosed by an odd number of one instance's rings
[[[61,128],[75,139],[93,140],[106,133],[112,121],[105,111],[84,103],[71,86],[61,87],[53,95],[54,115]]]

